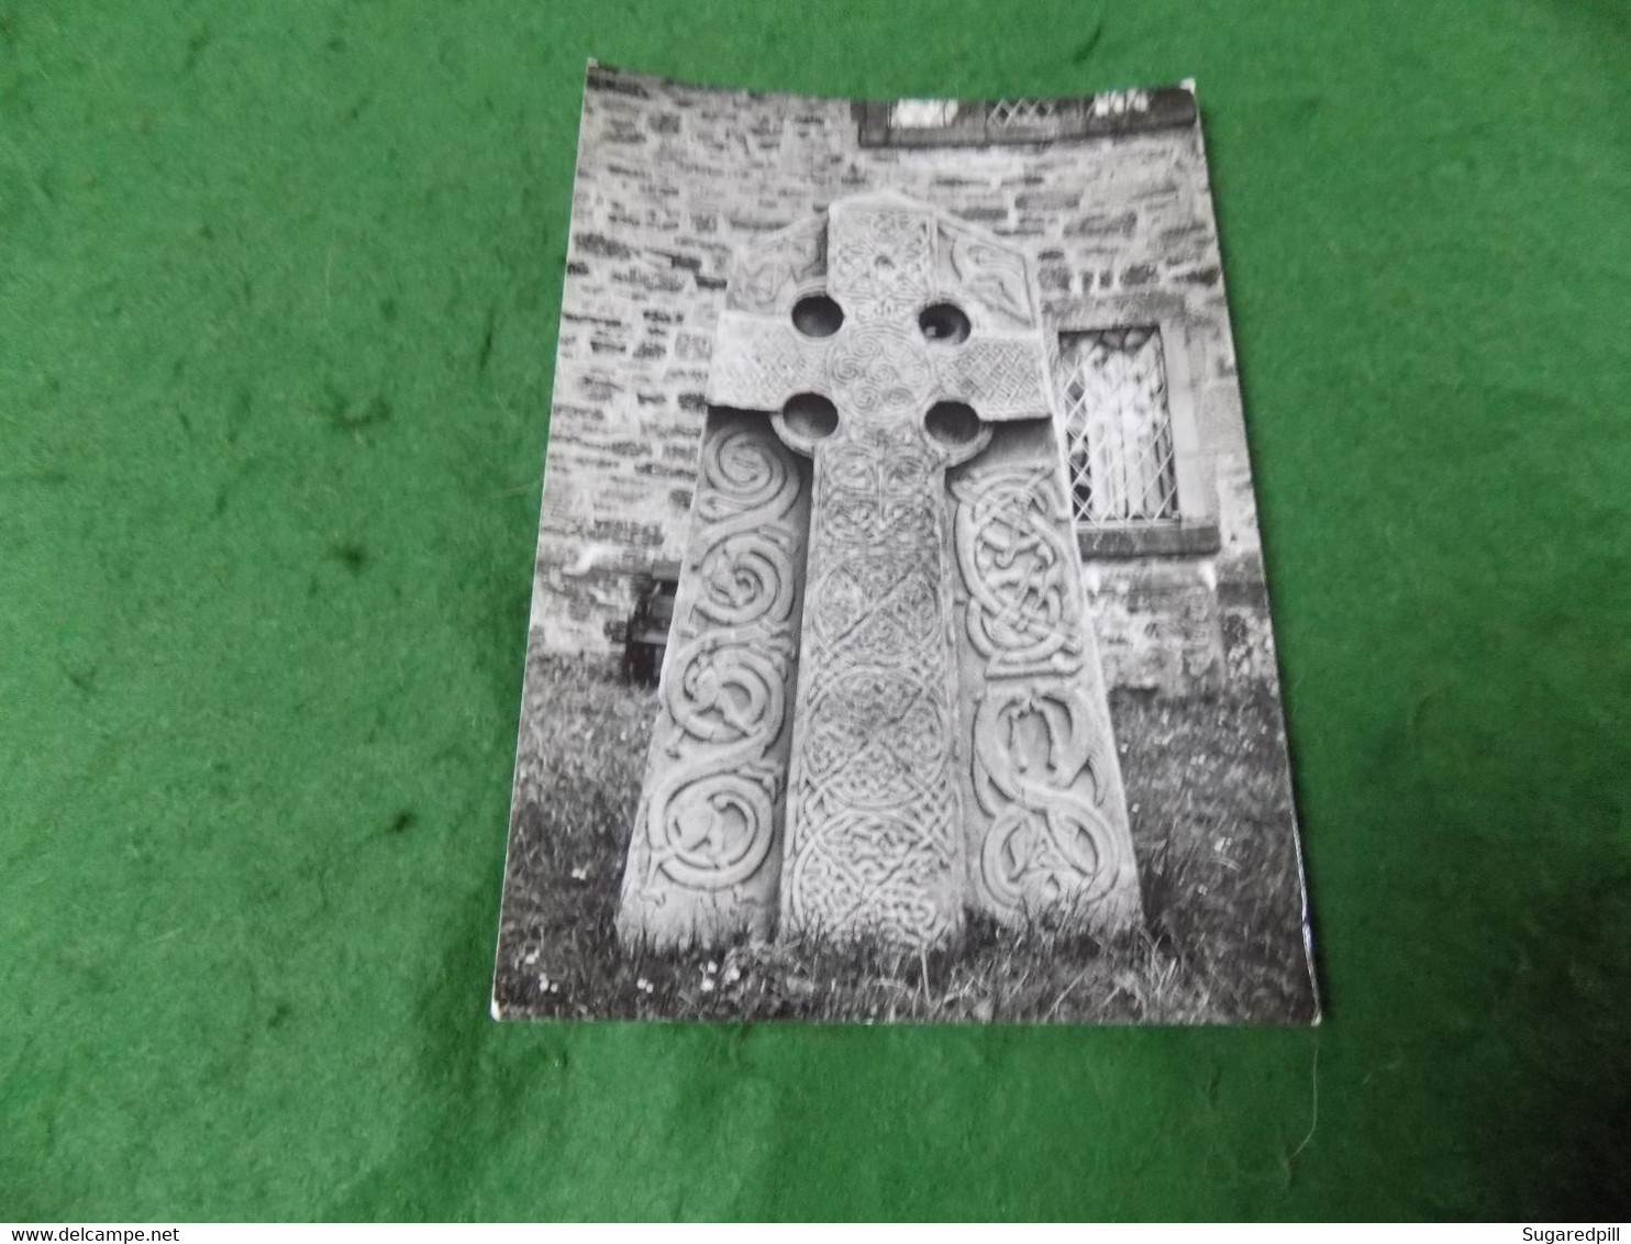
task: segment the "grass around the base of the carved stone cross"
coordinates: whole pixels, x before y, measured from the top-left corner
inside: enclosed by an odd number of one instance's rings
[[[494,978],[561,1019],[1303,1022],[1302,890],[1279,704],[1112,698],[1147,924],[1116,939],[974,916],[923,955],[807,944],[628,951],[613,913],[656,693],[535,657]]]

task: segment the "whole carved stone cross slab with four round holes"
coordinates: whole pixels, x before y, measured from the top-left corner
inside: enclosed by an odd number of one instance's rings
[[[1049,395],[1024,254],[925,204],[739,256],[625,941],[1138,920]]]

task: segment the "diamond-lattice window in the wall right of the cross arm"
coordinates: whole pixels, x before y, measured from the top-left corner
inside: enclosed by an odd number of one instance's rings
[[[1160,329],[1067,333],[1060,337],[1060,372],[1076,523],[1178,518]]]

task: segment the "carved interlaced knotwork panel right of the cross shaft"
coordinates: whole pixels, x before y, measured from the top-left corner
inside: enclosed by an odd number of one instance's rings
[[[951,492],[974,902],[1006,923],[1129,926],[1127,799],[1052,427],[1000,429]]]

